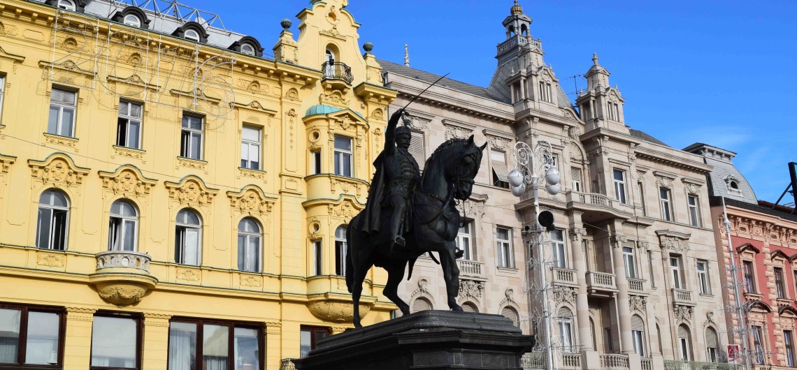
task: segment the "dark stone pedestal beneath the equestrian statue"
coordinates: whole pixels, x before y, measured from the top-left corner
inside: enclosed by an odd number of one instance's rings
[[[533,345],[501,315],[429,310],[323,339],[296,368],[520,370]]]

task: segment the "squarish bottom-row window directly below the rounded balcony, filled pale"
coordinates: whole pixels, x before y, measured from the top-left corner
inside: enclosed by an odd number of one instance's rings
[[[130,316],[94,316],[92,368],[140,368],[139,319]]]

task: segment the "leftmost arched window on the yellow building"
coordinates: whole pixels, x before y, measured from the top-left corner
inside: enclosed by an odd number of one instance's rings
[[[36,246],[42,249],[66,250],[69,227],[69,200],[57,190],[47,190],[39,197]]]

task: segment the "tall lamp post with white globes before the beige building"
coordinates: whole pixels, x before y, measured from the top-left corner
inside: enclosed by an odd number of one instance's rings
[[[561,176],[556,167],[551,166],[550,159],[553,158],[551,143],[540,140],[532,150],[525,142],[517,142],[514,147],[513,157],[515,158],[515,168],[508,173],[507,181],[512,187],[512,194],[515,197],[522,196],[528,187],[532,186],[532,197],[534,198],[534,228],[528,232],[536,235],[534,238],[537,244],[537,258],[543,260],[544,243],[542,243],[542,232],[544,231],[540,224],[540,199],[538,189],[540,187],[540,177],[538,171],[544,171],[545,190],[551,194],[556,195],[562,189],[559,185]],[[551,220],[552,221],[552,220]],[[550,224],[545,226],[551,226]],[[543,264],[540,264],[540,289],[542,289],[543,298],[543,327],[545,335],[545,368],[548,370],[553,369],[553,352],[551,345],[551,312],[548,307],[548,274]]]

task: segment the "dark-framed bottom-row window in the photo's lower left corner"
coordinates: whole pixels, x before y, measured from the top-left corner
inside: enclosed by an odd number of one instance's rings
[[[63,309],[0,306],[0,367],[61,365]]]

